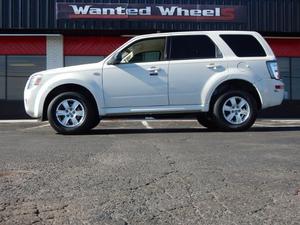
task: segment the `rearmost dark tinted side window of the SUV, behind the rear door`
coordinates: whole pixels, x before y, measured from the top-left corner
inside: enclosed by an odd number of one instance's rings
[[[266,52],[252,35],[223,34],[220,37],[238,57],[266,56]]]

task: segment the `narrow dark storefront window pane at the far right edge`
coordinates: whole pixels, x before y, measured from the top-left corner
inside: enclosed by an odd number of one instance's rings
[[[292,98],[300,100],[300,58],[291,60]]]

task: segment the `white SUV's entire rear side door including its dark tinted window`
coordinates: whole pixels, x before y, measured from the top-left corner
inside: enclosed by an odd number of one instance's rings
[[[206,82],[227,67],[223,55],[207,35],[173,36],[170,42],[170,105],[200,105]]]

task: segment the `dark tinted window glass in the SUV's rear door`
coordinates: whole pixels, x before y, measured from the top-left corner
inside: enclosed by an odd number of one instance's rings
[[[205,35],[171,37],[170,59],[221,58],[222,54],[214,42]]]

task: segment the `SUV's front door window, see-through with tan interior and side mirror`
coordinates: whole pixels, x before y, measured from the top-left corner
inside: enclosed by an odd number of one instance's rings
[[[153,38],[133,43],[121,51],[121,64],[155,62],[164,59],[165,38]]]

